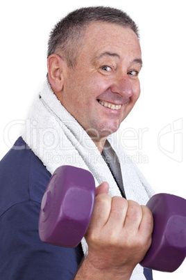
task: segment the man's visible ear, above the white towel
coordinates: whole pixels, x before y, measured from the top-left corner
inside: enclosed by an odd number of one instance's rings
[[[59,93],[63,88],[63,60],[58,54],[51,54],[47,61],[48,77],[53,91]]]

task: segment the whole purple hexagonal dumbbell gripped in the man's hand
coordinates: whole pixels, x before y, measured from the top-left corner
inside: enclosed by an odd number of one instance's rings
[[[62,247],[76,247],[90,224],[95,189],[90,171],[68,165],[58,167],[42,198],[40,239]],[[174,272],[186,256],[186,200],[171,194],[155,194],[147,206],[153,213],[153,235],[151,247],[140,264]]]

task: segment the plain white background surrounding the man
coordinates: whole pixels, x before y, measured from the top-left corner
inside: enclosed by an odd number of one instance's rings
[[[3,2],[3,3],[2,3]],[[140,100],[121,126],[127,152],[155,192],[186,198],[185,1],[1,1],[0,159],[19,137],[33,96],[47,74],[47,40],[61,17],[82,6],[112,6],[140,27],[144,67]],[[169,132],[169,133],[165,133]],[[130,137],[130,141],[126,138]],[[185,279],[186,262],[154,279]]]

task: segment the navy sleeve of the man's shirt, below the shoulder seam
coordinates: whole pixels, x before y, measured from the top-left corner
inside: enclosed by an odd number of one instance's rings
[[[0,217],[1,280],[73,279],[83,258],[81,244],[58,247],[40,240],[40,203],[13,205]]]

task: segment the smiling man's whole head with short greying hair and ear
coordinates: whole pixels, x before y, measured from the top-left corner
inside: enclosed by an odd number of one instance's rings
[[[91,9],[96,12],[96,8],[86,9],[89,13]],[[86,19],[85,10],[79,11]],[[108,17],[111,8],[101,7],[98,11],[99,20],[93,20],[92,16],[92,21],[87,20],[83,29],[69,28],[74,36],[67,39],[65,45],[58,38],[60,43],[49,52],[48,76],[62,105],[101,150],[105,139],[117,131],[140,96],[138,73],[142,57],[137,28],[128,15],[113,9],[113,22],[111,16]],[[107,20],[100,19],[101,13]],[[121,24],[116,14],[126,18],[126,24]]]

